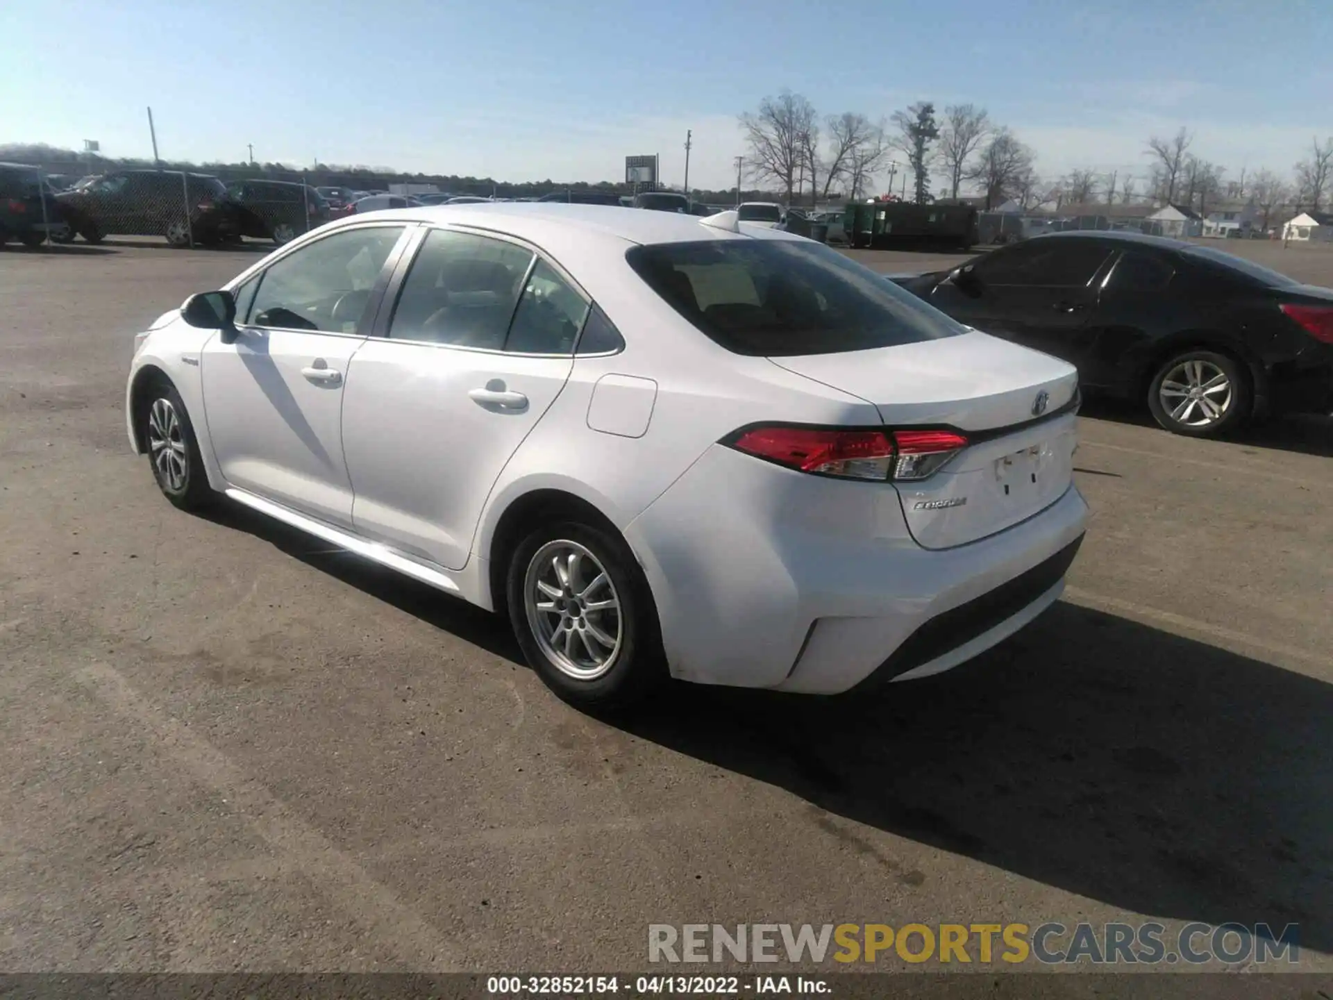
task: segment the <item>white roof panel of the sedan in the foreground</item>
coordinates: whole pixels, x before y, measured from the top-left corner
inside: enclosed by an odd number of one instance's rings
[[[625,243],[696,243],[700,240],[749,239],[756,231],[733,232],[704,225],[702,217],[682,212],[651,212],[620,205],[579,205],[563,201],[485,201],[459,205],[424,205],[421,208],[391,209],[379,217],[423,221],[459,223],[479,229],[531,240],[543,245],[555,232],[579,232],[589,237],[616,239]],[[369,215],[359,215],[364,221]],[[348,220],[351,221],[351,220]],[[761,239],[786,233],[762,229]]]

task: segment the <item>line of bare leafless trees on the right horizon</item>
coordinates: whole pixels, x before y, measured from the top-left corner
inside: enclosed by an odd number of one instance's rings
[[[885,173],[892,188],[904,171],[901,195],[917,203],[957,199],[965,185],[985,208],[1014,200],[1024,209],[1038,205],[1176,204],[1206,215],[1218,201],[1253,201],[1264,228],[1278,209],[1320,211],[1333,200],[1333,137],[1312,140],[1309,155],[1292,168],[1292,180],[1272,169],[1228,169],[1190,152],[1194,136],[1181,128],[1172,136],[1150,136],[1144,155],[1146,185],[1120,171],[1076,168],[1042,180],[1036,152],[1014,132],[976,104],[952,104],[937,113],[932,101],[917,101],[885,121],[858,112],[821,117],[804,96],[782,91],[765,97],[758,109],[740,116],[745,139],[744,165],[760,185],[785,192],[788,204],[873,195]],[[894,156],[901,156],[900,164]],[[941,180],[938,196],[932,181]],[[910,191],[906,181],[910,180]]]

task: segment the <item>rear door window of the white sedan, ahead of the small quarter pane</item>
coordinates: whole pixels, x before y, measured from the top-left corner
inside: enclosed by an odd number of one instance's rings
[[[532,252],[487,236],[432,229],[403,283],[389,336],[499,351]]]

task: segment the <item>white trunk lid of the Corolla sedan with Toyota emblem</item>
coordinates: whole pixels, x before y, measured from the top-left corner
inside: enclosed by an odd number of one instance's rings
[[[874,404],[886,427],[950,427],[968,447],[920,483],[894,488],[917,544],[965,545],[1056,503],[1073,481],[1074,368],[969,332],[874,351],[772,357]]]

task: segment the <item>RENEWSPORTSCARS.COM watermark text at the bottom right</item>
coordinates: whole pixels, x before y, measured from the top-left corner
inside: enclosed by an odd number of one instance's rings
[[[1300,961],[1300,925],[649,924],[648,961],[1264,964]]]

